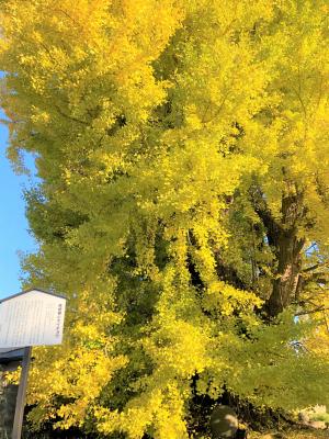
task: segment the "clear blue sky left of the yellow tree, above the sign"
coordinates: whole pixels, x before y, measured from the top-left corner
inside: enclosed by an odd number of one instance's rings
[[[1,75],[0,75],[1,76]],[[3,119],[0,110],[0,119]],[[31,187],[26,176],[16,176],[5,158],[8,130],[0,124],[0,299],[21,290],[19,251],[33,251],[36,245],[29,235],[23,188]],[[27,167],[33,169],[32,158]]]

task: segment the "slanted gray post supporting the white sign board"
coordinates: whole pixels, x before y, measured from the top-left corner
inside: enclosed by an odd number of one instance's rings
[[[25,407],[25,395],[26,395],[26,387],[27,387],[27,376],[29,376],[29,369],[30,369],[30,363],[31,363],[31,351],[32,351],[31,346],[29,346],[27,348],[24,348],[22,372],[21,372],[20,386],[19,386],[18,398],[16,398],[15,417],[14,417],[14,424],[13,424],[13,429],[12,429],[12,439],[21,439],[21,435],[22,435],[22,425],[23,425],[23,416],[24,416],[24,407]]]

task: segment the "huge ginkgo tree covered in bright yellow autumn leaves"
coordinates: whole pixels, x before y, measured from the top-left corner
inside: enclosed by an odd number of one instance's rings
[[[8,155],[41,179],[25,283],[69,296],[33,426],[201,438],[202,395],[329,404],[328,3],[0,5]]]

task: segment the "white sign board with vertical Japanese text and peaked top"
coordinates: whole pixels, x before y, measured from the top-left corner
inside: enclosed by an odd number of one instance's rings
[[[66,299],[30,290],[0,302],[0,348],[59,345]]]

